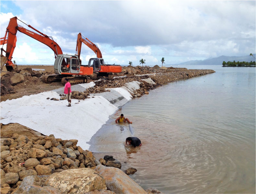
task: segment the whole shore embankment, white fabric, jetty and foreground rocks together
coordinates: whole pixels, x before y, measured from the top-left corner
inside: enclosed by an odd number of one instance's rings
[[[120,162],[97,160],[87,142],[133,98],[214,72],[176,70],[77,84],[71,86],[71,107],[60,100],[63,88],[1,102],[1,193],[160,193],[141,188]]]

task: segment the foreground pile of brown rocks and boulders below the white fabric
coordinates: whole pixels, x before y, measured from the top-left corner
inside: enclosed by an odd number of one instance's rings
[[[77,142],[1,124],[1,193],[151,193],[113,156],[97,160]]]

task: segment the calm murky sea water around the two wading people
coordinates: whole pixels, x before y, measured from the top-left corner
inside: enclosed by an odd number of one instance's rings
[[[133,99],[92,137],[143,189],[163,193],[255,193],[255,68],[187,66],[216,72],[171,82]],[[123,113],[133,124],[115,124]],[[136,136],[142,146],[125,146]]]

